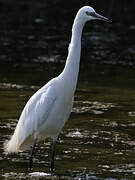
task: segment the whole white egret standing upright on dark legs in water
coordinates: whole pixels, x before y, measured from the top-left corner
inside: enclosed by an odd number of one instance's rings
[[[51,171],[54,170],[56,141],[73,106],[80,65],[82,30],[87,21],[95,19],[110,22],[108,18],[97,14],[92,7],[84,6],[78,11],[72,27],[71,43],[64,70],[29,99],[14,134],[5,142],[4,150],[7,153],[24,151],[33,144],[29,162],[30,171],[37,140],[46,137],[53,139]]]

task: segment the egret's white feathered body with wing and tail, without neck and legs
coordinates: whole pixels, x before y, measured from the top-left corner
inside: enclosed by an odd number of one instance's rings
[[[28,149],[36,137],[57,139],[73,104],[73,95],[66,96],[58,87],[59,80],[54,78],[29,99],[7,144],[9,152]]]

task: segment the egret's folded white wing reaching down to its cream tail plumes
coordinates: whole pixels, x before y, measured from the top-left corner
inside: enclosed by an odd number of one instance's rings
[[[47,120],[55,101],[56,93],[50,86],[41,88],[30,98],[23,109],[13,136],[5,143],[6,152],[26,150],[33,144],[38,128]]]

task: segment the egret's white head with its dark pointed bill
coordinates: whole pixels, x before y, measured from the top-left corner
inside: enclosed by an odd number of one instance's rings
[[[101,21],[111,22],[108,18],[96,13],[96,11],[90,6],[82,7],[79,10],[78,14],[81,15],[81,18],[83,18],[85,22],[90,20],[101,20]]]

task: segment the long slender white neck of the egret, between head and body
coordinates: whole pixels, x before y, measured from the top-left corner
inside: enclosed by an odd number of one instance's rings
[[[76,16],[73,23],[72,37],[69,46],[67,61],[63,72],[60,74],[60,77],[66,83],[65,85],[67,87],[70,86],[70,89],[73,91],[73,93],[76,88],[79,73],[81,55],[81,36],[83,27],[83,20],[79,19],[79,17]]]

